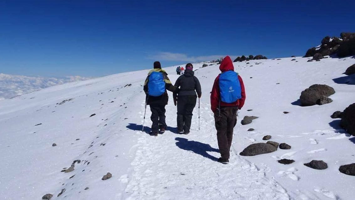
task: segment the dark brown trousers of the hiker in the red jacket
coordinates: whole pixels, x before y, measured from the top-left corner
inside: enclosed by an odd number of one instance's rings
[[[217,130],[218,148],[222,158],[229,159],[230,146],[233,139],[233,128],[237,123],[238,107],[221,107],[220,113],[214,113]]]

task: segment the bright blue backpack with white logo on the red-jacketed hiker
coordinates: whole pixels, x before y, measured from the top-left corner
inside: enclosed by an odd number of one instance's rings
[[[219,75],[219,91],[221,101],[233,103],[241,98],[241,87],[238,79],[238,73],[235,71],[226,71]]]

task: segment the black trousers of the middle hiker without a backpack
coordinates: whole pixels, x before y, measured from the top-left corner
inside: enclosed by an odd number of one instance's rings
[[[190,133],[192,111],[196,106],[196,95],[178,96],[178,131]]]

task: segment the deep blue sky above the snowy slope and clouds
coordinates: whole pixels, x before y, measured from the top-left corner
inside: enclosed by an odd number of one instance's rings
[[[213,55],[303,56],[355,1],[0,1],[0,73],[104,76]],[[232,58],[234,59],[234,58]]]

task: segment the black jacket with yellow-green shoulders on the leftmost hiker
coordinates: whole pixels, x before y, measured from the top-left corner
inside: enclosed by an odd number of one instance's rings
[[[176,87],[173,86],[173,84],[171,84],[169,78],[168,78],[168,74],[166,74],[166,72],[162,69],[152,69],[151,71],[149,71],[148,76],[146,78],[146,81],[144,81],[144,86],[143,86],[143,90],[146,93],[146,102],[147,105],[157,105],[157,104],[168,104],[168,93],[165,90],[165,93],[158,96],[158,97],[154,97],[154,96],[150,96],[148,94],[148,81],[149,81],[149,75],[152,74],[153,71],[157,71],[163,74],[163,80],[165,82],[165,89],[169,90],[171,92],[175,92],[176,91]]]

